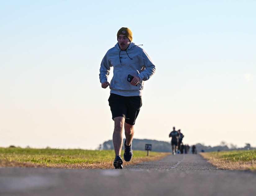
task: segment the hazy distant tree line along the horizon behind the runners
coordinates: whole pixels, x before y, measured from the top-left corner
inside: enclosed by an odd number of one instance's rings
[[[145,144],[152,144],[152,151],[155,152],[171,152],[171,144],[170,142],[164,142],[164,141],[157,141],[157,140],[150,140],[150,139],[133,139],[132,140],[132,149],[133,150],[145,150]],[[251,147],[249,143],[245,144],[245,147],[242,148],[237,148],[236,145],[229,145],[225,142],[221,142],[219,146],[204,146],[203,144],[197,143],[197,144],[192,144],[195,145],[196,151],[197,152],[212,152],[212,151],[232,151],[232,150],[251,150],[251,149],[256,149],[254,147]],[[191,153],[191,147],[190,146],[190,151]],[[103,144],[100,144],[98,147],[99,150],[114,150],[113,146],[113,141],[108,140],[104,142]],[[124,145],[122,147],[122,150],[124,150]]]

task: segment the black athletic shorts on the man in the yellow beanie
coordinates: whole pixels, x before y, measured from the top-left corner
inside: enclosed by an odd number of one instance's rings
[[[142,106],[141,96],[125,97],[110,93],[109,106],[112,112],[112,119],[115,117],[124,117],[125,122],[134,125],[136,118]]]

